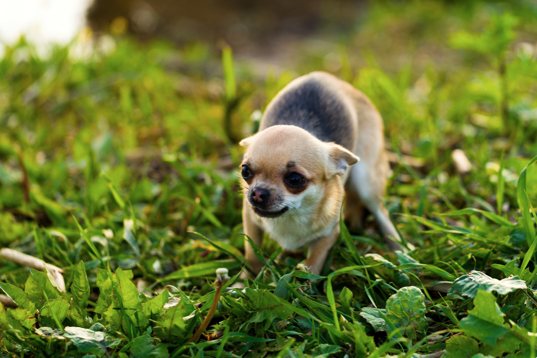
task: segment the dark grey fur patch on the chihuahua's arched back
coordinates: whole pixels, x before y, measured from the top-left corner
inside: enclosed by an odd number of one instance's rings
[[[315,78],[287,90],[277,103],[267,108],[263,127],[275,125],[301,127],[323,142],[335,142],[351,150],[353,147],[349,108]]]

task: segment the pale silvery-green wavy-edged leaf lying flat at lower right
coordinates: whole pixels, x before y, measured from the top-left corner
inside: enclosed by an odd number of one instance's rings
[[[459,293],[461,296],[474,298],[478,290],[484,290],[489,293],[496,292],[503,296],[516,290],[525,289],[527,289],[526,282],[520,280],[518,276],[496,280],[480,271],[470,271],[467,275],[462,275],[453,282],[448,295]]]

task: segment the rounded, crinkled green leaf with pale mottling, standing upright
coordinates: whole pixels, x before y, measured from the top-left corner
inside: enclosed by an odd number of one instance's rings
[[[425,296],[414,286],[403,287],[391,295],[386,301],[386,317],[396,327],[401,329],[405,337],[416,339],[416,332],[427,328],[425,318]],[[392,328],[387,326],[388,334]]]

